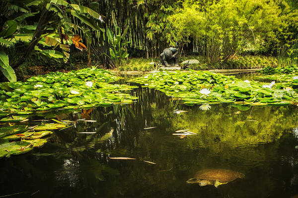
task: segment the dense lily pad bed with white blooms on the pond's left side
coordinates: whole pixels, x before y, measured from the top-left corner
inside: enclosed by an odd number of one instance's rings
[[[123,93],[135,87],[109,84],[118,79],[108,71],[93,67],[34,76],[23,83],[1,83],[1,114],[29,114],[53,108],[87,108],[131,103],[137,99]]]

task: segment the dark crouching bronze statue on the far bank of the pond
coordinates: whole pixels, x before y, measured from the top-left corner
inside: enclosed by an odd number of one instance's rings
[[[166,67],[179,67],[179,53],[176,48],[166,48],[160,54],[160,62]]]

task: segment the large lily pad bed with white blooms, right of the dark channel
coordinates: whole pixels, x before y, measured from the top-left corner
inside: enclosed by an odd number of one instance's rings
[[[298,101],[297,93],[293,90],[280,90],[275,82],[242,81],[234,76],[208,71],[155,72],[132,79],[131,82],[148,84],[149,88],[183,99],[189,105],[219,102],[266,105]]]

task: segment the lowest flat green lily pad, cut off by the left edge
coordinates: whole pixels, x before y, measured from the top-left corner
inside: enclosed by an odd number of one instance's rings
[[[0,157],[29,152],[33,149],[31,147],[28,147],[30,145],[31,144],[27,142],[12,142],[0,144]]]

